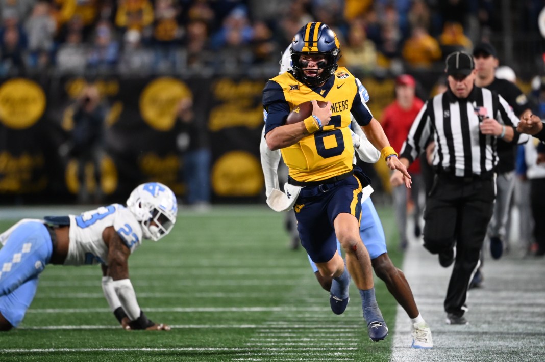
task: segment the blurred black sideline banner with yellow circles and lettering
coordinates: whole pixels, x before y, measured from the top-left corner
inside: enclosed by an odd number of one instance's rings
[[[379,119],[393,100],[393,80],[360,79]],[[210,201],[264,202],[259,141],[266,82],[221,76],[3,80],[0,203],[82,202],[83,194],[89,195],[87,202],[120,202],[150,180],[165,183],[184,202],[187,179],[195,176],[181,171],[186,161],[182,145],[190,141],[182,135],[179,109],[187,99],[191,108],[183,112],[193,117],[190,135],[210,153],[210,164],[202,165],[210,180]],[[90,128],[80,127],[89,88],[101,99],[98,129],[89,118],[85,127]],[[78,147],[76,140],[89,133],[99,134],[101,141]]]

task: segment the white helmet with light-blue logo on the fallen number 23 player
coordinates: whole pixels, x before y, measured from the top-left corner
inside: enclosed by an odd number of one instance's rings
[[[176,196],[159,182],[139,185],[127,199],[127,208],[142,226],[144,238],[158,241],[168,234],[178,214]]]

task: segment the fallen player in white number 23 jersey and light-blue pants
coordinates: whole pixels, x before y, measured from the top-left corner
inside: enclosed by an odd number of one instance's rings
[[[140,309],[129,279],[128,259],[142,239],[158,241],[174,226],[177,200],[167,186],[146,183],[127,206],[111,204],[81,215],[23,219],[0,234],[0,330],[22,321],[47,264],[101,264],[102,290],[125,330],[170,330]],[[5,267],[9,265],[9,267]]]

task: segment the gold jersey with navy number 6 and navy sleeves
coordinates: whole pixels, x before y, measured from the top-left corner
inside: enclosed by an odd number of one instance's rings
[[[282,119],[268,117],[265,134],[282,126],[298,104],[312,100],[331,102],[328,126],[280,150],[289,167],[289,176],[295,180],[311,182],[352,170],[354,146],[349,129],[350,113],[362,126],[373,117],[358,92],[356,78],[343,67],[339,67],[336,74],[337,77],[329,78],[322,86],[311,88],[298,82],[293,72],[286,72],[270,79],[263,90],[265,109],[282,107],[282,113],[285,112]],[[299,84],[297,88],[293,86],[295,83]]]

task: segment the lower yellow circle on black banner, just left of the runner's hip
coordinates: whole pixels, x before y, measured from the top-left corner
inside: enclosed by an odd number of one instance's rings
[[[258,195],[263,188],[260,161],[248,152],[227,152],[212,167],[212,188],[220,196]]]

